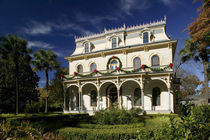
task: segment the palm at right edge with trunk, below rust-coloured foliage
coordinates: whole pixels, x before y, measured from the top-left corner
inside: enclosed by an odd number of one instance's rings
[[[206,48],[200,51],[198,48],[200,46],[199,42],[194,42],[193,38],[187,39],[185,42],[185,48],[180,50],[179,54],[181,56],[181,61],[184,63],[191,58],[195,61],[202,61],[204,69],[204,87],[206,94],[206,102],[208,103],[208,73],[207,73],[207,62],[208,62],[208,52]]]

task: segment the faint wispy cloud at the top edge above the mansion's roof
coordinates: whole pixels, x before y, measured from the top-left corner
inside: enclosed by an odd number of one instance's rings
[[[148,0],[120,0],[120,9],[128,15],[131,10],[145,10],[150,7]]]

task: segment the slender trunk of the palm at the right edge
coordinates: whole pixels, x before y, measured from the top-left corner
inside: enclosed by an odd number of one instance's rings
[[[208,87],[208,72],[207,72],[207,61],[203,60],[203,71],[204,71],[204,91],[206,103],[208,104],[209,99],[209,87]]]

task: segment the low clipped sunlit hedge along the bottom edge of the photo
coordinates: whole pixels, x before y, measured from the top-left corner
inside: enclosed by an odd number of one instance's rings
[[[153,128],[115,128],[115,129],[87,129],[87,128],[63,128],[58,130],[59,135],[69,140],[119,140],[136,139],[138,130],[152,131]]]

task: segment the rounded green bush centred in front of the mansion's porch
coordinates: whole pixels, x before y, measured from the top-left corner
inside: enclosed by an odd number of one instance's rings
[[[138,122],[140,119],[140,114],[142,112],[141,109],[118,109],[118,108],[110,108],[105,110],[100,110],[95,112],[94,120],[97,124],[129,124]]]

